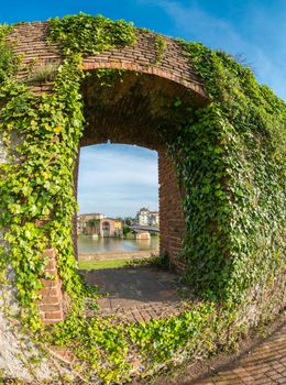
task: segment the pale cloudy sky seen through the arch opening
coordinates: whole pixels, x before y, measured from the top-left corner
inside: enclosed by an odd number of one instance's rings
[[[158,207],[156,152],[127,145],[97,145],[80,151],[80,212],[134,216],[141,206]]]

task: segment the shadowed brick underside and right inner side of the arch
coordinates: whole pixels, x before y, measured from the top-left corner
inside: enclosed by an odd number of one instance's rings
[[[199,105],[186,87],[158,76],[130,70],[89,72],[82,84],[86,127],[80,147],[124,143],[155,150],[158,154],[160,253],[168,255],[177,271],[185,235],[182,207],[184,191],[168,153],[167,132],[177,130],[174,102]],[[172,112],[170,112],[172,111]],[[162,134],[166,132],[166,135]],[[78,179],[78,164],[75,169]],[[75,238],[75,237],[74,237]],[[77,248],[76,248],[77,249]]]

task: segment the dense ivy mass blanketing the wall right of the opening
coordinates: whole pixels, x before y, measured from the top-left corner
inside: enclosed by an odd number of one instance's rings
[[[187,190],[187,278],[200,295],[245,300],[285,268],[286,106],[230,55],[183,48],[211,99],[182,129],[184,145],[173,144]]]

